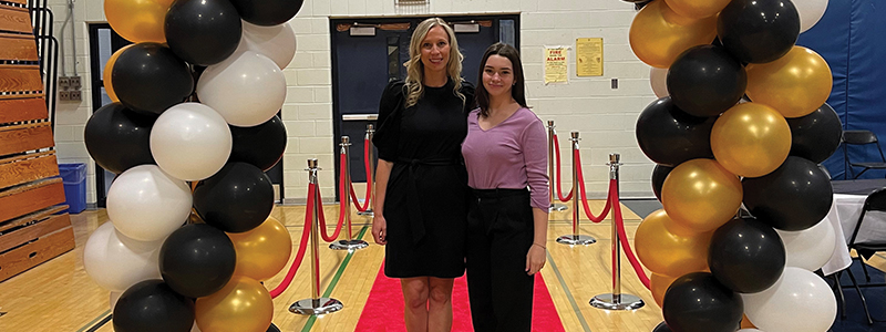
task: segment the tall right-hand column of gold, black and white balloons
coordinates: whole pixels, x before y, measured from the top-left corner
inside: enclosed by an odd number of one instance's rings
[[[812,271],[834,250],[833,228],[820,222],[833,193],[816,164],[842,125],[825,104],[827,63],[794,45],[825,8],[653,0],[635,18],[630,45],[653,68],[659,97],[636,127],[663,206],[635,238],[664,317],[655,331],[831,328],[836,301]]]

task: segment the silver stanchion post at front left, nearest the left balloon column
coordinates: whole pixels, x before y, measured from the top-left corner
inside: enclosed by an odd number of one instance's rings
[[[319,198],[319,181],[317,179],[317,172],[320,168],[317,167],[317,159],[308,159],[308,180],[311,185],[313,185],[315,189],[315,198]],[[336,311],[341,310],[344,305],[341,301],[332,299],[332,298],[321,298],[320,297],[320,256],[318,250],[320,249],[320,210],[319,204],[317,201],[313,203],[313,206],[305,207],[306,209],[313,210],[313,217],[311,218],[311,229],[305,229],[303,231],[311,232],[311,298],[303,299],[296,301],[292,305],[289,305],[289,311],[292,313],[298,314],[327,314],[332,313]]]

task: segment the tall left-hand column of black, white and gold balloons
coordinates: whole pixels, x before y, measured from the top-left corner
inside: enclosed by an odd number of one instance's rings
[[[111,291],[115,331],[272,326],[260,281],[284,268],[291,240],[270,217],[264,172],[286,148],[276,114],[296,52],[287,21],[302,2],[105,1],[109,23],[134,44],[107,62],[114,103],[84,131],[90,155],[117,177],[111,222],[83,261]]]

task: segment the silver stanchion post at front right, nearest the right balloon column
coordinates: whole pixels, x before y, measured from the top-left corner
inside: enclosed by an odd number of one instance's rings
[[[618,172],[619,166],[621,166],[621,155],[619,154],[609,154],[609,179],[616,181],[616,195],[615,197],[620,197],[618,195]],[[621,204],[619,201],[612,201],[612,208],[617,209],[619,207],[616,204]],[[604,310],[637,310],[646,305],[643,300],[636,295],[631,294],[624,294],[621,293],[621,242],[619,241],[618,237],[618,225],[616,224],[616,218],[612,218],[612,293],[608,294],[599,294],[590,299],[590,305],[597,309]]]

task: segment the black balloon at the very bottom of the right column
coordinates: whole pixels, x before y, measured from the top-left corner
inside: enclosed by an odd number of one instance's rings
[[[671,283],[661,312],[673,331],[734,332],[741,323],[744,302],[711,273],[696,272]]]

